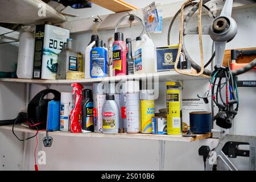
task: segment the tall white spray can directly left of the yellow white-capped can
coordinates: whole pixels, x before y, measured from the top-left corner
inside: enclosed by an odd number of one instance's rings
[[[125,87],[127,133],[139,133],[139,81],[126,81]]]

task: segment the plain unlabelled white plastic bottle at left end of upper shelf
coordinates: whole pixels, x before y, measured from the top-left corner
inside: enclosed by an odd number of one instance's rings
[[[19,54],[17,65],[18,78],[31,79],[33,77],[35,38],[29,30],[22,30],[19,38]]]

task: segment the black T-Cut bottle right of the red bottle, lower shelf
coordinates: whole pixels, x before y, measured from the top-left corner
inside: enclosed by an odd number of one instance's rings
[[[92,90],[84,89],[82,104],[82,133],[94,130]]]

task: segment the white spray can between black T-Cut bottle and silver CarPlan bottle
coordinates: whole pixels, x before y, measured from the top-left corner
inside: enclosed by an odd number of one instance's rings
[[[106,100],[105,85],[93,84],[93,122],[94,132],[102,132],[102,106]]]

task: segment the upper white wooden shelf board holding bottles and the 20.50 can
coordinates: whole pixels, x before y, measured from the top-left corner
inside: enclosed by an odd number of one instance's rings
[[[29,83],[29,84],[71,84],[73,82],[79,82],[81,84],[92,84],[93,82],[101,81],[126,81],[126,80],[143,80],[151,79],[155,82],[166,82],[171,80],[204,80],[207,76],[186,76],[180,75],[176,71],[165,71],[158,73],[143,73],[138,75],[123,75],[113,77],[102,77],[102,78],[84,78],[80,80],[33,80],[33,79],[19,79],[19,78],[0,78],[2,82],[17,82],[17,83]],[[154,80],[153,80],[154,79]]]

